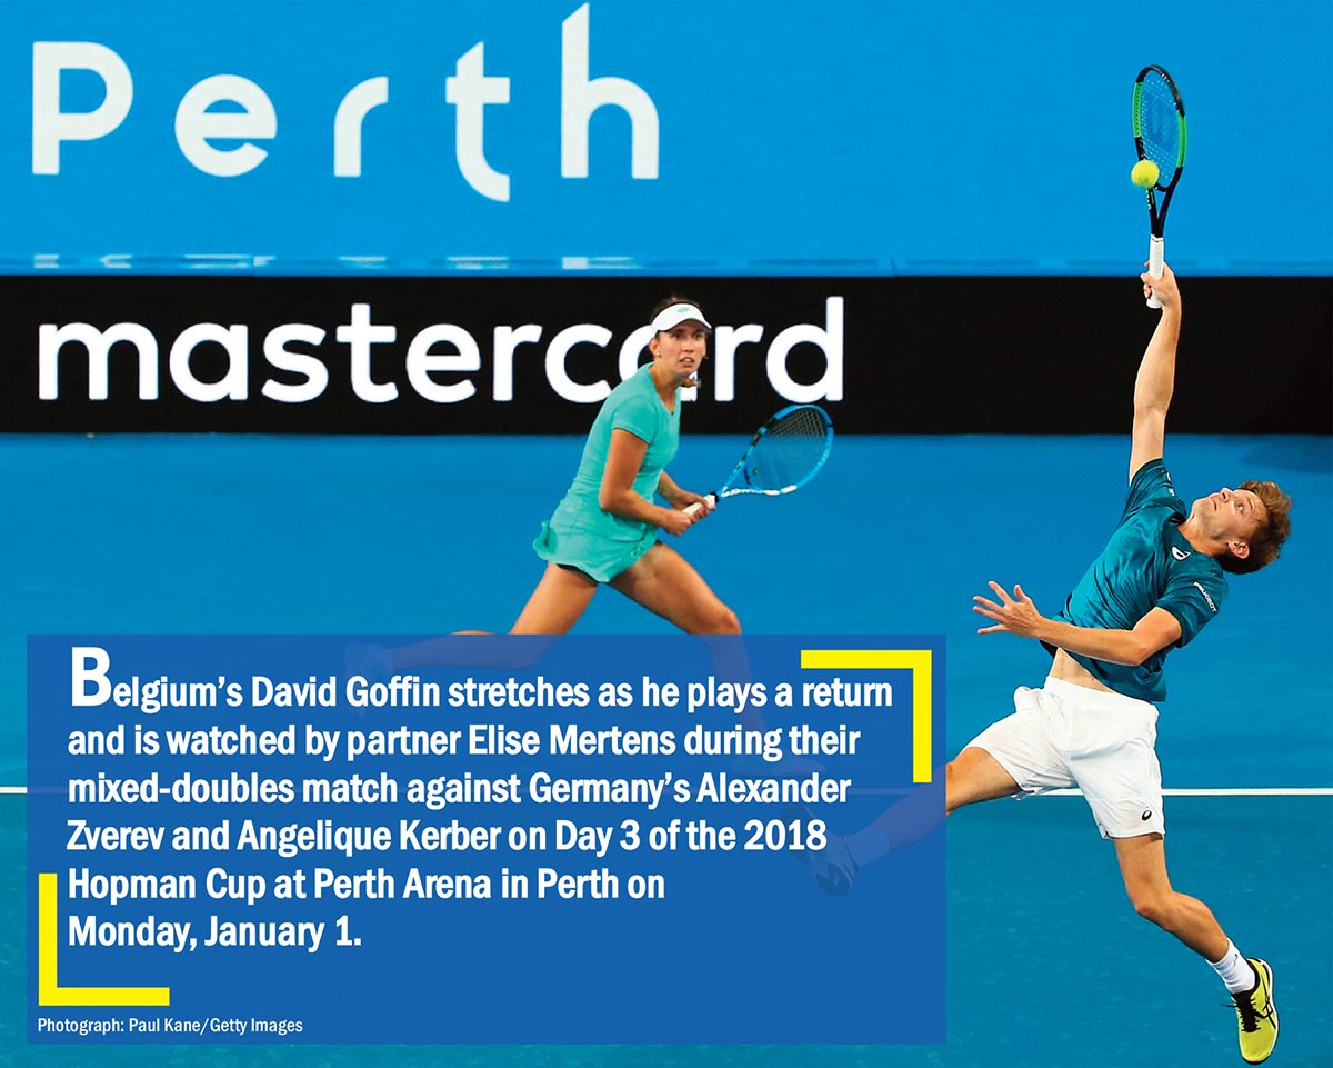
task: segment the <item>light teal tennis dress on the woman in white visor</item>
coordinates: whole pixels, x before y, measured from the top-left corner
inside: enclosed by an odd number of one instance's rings
[[[629,431],[648,443],[644,464],[635,476],[635,492],[644,500],[653,499],[657,480],[666,464],[676,459],[676,449],[680,448],[680,391],[676,391],[674,411],[668,412],[657,396],[651,371],[651,365],[641,367],[603,401],[588,432],[575,480],[532,543],[543,560],[579,568],[599,583],[609,583],[657,541],[655,524],[613,516],[597,503],[612,431]]]

